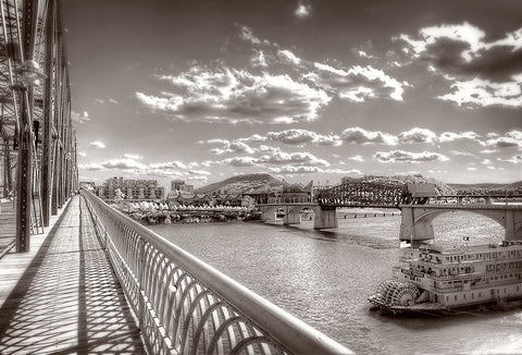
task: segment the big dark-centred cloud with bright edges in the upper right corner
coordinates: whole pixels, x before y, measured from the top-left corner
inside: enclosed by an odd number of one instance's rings
[[[438,96],[457,105],[520,107],[522,100],[522,27],[496,40],[468,23],[424,27],[419,37],[401,34],[405,52],[424,61],[452,82]]]

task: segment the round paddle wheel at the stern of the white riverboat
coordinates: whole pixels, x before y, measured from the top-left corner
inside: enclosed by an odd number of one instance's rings
[[[421,295],[419,289],[411,282],[384,280],[370,301],[375,306],[411,306]]]

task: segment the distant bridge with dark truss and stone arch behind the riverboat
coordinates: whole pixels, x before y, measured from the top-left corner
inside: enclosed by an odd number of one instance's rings
[[[499,204],[498,201],[501,201]],[[337,228],[341,207],[397,208],[402,211],[401,241],[433,240],[433,220],[450,211],[486,216],[506,230],[506,240],[522,240],[522,196],[514,194],[438,195],[433,184],[350,182],[320,191],[313,203],[272,203],[257,206],[263,220],[283,209],[284,224],[299,224],[304,208],[313,210],[314,229]]]

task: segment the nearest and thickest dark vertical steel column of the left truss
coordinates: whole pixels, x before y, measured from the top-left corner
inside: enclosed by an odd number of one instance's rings
[[[22,48],[23,57],[33,60],[35,56],[35,40],[38,25],[39,0],[25,0],[23,13]],[[29,250],[30,199],[33,198],[33,105],[34,88],[22,88],[21,95],[20,147],[17,166],[17,204],[16,204],[16,252]]]

